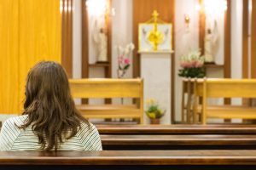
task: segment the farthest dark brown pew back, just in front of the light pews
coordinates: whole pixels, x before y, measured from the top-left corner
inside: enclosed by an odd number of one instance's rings
[[[256,134],[255,125],[96,125],[100,134]]]

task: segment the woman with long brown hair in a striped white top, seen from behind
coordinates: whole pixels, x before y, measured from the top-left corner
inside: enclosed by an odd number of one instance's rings
[[[75,108],[61,65],[35,65],[25,94],[22,116],[3,123],[0,150],[102,150],[96,127]]]

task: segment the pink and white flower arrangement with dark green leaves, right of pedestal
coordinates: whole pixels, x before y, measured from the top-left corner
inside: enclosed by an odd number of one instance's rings
[[[205,77],[205,70],[203,68],[204,62],[205,58],[201,56],[199,50],[191,51],[189,54],[183,55],[180,65],[182,69],[178,71],[178,76],[191,78]]]

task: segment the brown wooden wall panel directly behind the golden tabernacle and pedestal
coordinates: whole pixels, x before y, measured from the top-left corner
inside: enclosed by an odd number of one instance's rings
[[[174,9],[175,9],[175,0],[133,0],[133,43],[135,44],[134,50],[134,58],[133,58],[133,77],[140,77],[140,57],[137,54],[138,51],[138,24],[141,22],[146,22],[152,17],[153,11],[157,10],[160,14],[160,19],[166,22],[172,23],[172,47],[175,48],[175,37],[174,37]],[[172,96],[171,96],[171,106],[172,106],[172,123],[174,120],[174,112],[175,112],[175,101],[174,101],[174,93],[175,93],[175,58],[174,54],[172,54]]]

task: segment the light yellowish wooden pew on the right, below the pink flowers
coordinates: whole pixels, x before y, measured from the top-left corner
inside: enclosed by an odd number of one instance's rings
[[[195,81],[195,101],[202,98],[201,109],[198,102],[194,105],[194,114],[200,113],[202,123],[207,118],[256,119],[256,108],[243,105],[207,105],[209,98],[256,98],[255,79],[197,79]],[[201,110],[201,111],[200,111]],[[197,118],[195,118],[197,122]]]

